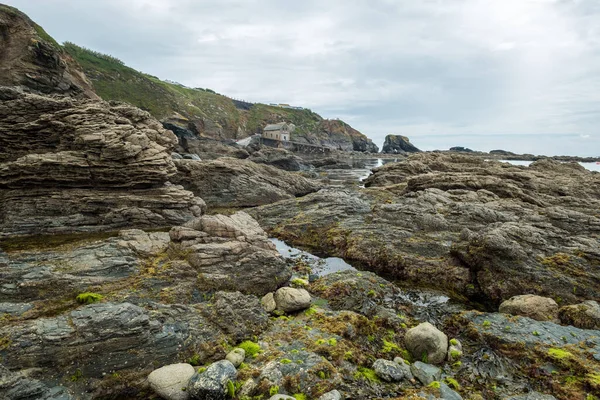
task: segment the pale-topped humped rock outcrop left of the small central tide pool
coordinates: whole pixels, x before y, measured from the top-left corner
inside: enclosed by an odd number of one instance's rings
[[[173,228],[170,235],[173,250],[185,255],[204,289],[264,295],[291,276],[275,245],[244,212],[205,215]]]

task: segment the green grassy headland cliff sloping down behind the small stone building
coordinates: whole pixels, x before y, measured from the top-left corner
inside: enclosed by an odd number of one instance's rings
[[[83,67],[100,97],[148,111],[180,138],[239,140],[261,133],[267,124],[286,121],[296,125],[294,141],[346,151],[378,151],[369,138],[350,125],[324,119],[308,109],[238,102],[210,89],[162,81],[114,57],[72,43],[65,43],[64,49]]]

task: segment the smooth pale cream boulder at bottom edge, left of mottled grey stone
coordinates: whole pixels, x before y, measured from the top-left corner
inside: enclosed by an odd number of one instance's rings
[[[187,385],[196,370],[190,364],[171,364],[152,371],[148,383],[157,395],[166,400],[187,400]]]

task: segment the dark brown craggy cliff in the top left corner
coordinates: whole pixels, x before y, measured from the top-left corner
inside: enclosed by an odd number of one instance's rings
[[[99,99],[81,68],[39,25],[0,6],[0,86]]]

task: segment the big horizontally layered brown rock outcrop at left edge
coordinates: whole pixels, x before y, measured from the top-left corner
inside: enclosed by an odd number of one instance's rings
[[[0,88],[0,236],[160,227],[199,216],[169,184],[175,136],[148,113]]]

